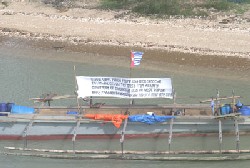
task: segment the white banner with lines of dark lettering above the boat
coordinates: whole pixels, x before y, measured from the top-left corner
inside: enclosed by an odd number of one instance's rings
[[[170,98],[170,78],[118,78],[77,76],[78,97]]]

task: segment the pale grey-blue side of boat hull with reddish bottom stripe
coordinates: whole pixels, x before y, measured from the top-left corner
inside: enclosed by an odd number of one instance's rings
[[[116,128],[112,122],[80,119],[75,116],[2,116],[0,118],[1,140],[51,140],[84,138],[121,138],[124,122]],[[235,134],[234,119],[220,119],[223,134]],[[250,133],[248,117],[237,118],[239,133]],[[177,117],[173,120],[173,136],[218,135],[219,119],[213,117]],[[170,120],[164,123],[145,124],[128,122],[125,138],[168,137]]]

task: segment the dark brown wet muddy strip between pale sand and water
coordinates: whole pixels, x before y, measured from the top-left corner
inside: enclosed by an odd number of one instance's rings
[[[72,51],[80,53],[93,53],[108,56],[128,57],[130,50],[144,51],[144,59],[163,64],[177,64],[180,66],[206,67],[206,68],[225,68],[229,70],[248,71],[250,70],[250,59],[232,56],[200,55],[182,52],[170,52],[162,49],[145,49],[142,47],[126,47],[112,45],[91,45],[91,44],[72,44],[54,40],[30,40],[26,38],[0,37],[2,45],[21,45],[25,47],[52,49],[60,51]],[[12,43],[12,44],[11,44]]]

